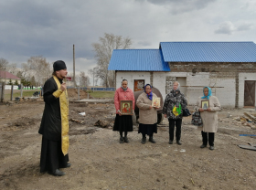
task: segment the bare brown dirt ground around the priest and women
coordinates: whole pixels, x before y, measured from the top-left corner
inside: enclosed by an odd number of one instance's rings
[[[256,143],[255,136],[240,136],[255,135],[256,125],[234,120],[253,110],[219,111],[216,149],[210,151],[199,148],[191,117],[183,120],[182,145],[168,144],[166,120],[158,125],[155,144],[142,144],[137,126],[130,142],[121,144],[112,132],[113,103],[69,102],[72,165],[61,177],[39,173],[43,110],[41,99],[0,104],[0,189],[255,189],[256,152],[237,145]],[[94,126],[97,121],[105,128]]]

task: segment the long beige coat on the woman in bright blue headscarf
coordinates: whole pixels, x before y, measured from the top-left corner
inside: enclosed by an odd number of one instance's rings
[[[198,98],[195,110],[198,111],[201,108],[201,101],[208,100],[202,99],[201,97]],[[211,111],[202,111],[200,112],[203,126],[198,127],[198,130],[203,132],[217,132],[218,130],[218,112],[221,110],[219,100],[216,96],[209,97],[209,108]]]

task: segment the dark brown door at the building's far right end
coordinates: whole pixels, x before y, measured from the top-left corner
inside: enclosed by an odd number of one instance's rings
[[[244,81],[244,106],[255,106],[255,80]]]

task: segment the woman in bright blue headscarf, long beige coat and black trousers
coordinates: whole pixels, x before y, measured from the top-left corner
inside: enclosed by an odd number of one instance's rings
[[[216,96],[212,96],[209,87],[203,88],[204,96],[199,97],[195,107],[196,111],[200,111],[203,126],[198,128],[201,130],[203,144],[200,148],[205,148],[209,144],[209,150],[214,150],[214,134],[218,130],[218,112],[221,110],[219,100]],[[202,101],[208,100],[208,108],[202,108]]]

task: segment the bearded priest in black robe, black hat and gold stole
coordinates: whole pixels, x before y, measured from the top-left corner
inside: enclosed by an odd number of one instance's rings
[[[53,64],[53,74],[44,85],[45,110],[39,128],[42,134],[40,172],[64,175],[59,168],[69,164],[69,99],[64,79],[68,71],[64,61]]]

